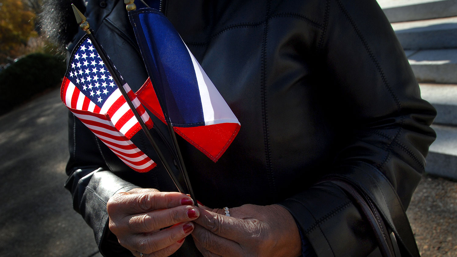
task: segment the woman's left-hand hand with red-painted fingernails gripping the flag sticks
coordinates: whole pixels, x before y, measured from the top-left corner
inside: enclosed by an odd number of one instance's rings
[[[113,195],[106,210],[110,230],[134,256],[165,257],[193,231],[190,221],[200,215],[193,205],[186,194],[137,188]]]

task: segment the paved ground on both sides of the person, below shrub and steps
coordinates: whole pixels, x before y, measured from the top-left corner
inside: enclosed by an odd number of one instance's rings
[[[101,257],[64,189],[67,109],[54,89],[0,117],[0,256]],[[457,183],[424,178],[408,210],[422,257],[457,256]]]

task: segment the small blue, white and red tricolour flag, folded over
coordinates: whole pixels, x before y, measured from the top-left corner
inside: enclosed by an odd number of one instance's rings
[[[240,124],[170,21],[158,10],[129,11],[149,77],[136,95],[154,115],[214,162]]]

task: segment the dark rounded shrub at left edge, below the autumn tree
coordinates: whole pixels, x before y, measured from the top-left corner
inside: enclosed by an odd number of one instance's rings
[[[0,114],[60,84],[65,74],[64,58],[32,53],[0,72]]]

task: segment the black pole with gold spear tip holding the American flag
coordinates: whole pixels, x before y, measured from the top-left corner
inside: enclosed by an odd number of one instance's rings
[[[180,193],[184,193],[184,190],[182,189],[181,184],[179,183],[178,179],[176,178],[175,173],[173,173],[173,170],[171,169],[170,165],[166,162],[165,156],[160,151],[159,146],[157,145],[157,143],[154,141],[154,138],[149,133],[148,127],[146,126],[146,124],[144,124],[143,119],[138,114],[137,109],[135,108],[132,101],[128,97],[127,92],[125,91],[123,85],[121,84],[121,79],[119,78],[118,73],[116,72],[115,68],[112,67],[111,62],[109,61],[109,58],[106,56],[106,53],[101,48],[101,45],[97,42],[96,38],[94,37],[94,34],[92,33],[93,31],[90,28],[89,22],[87,22],[86,17],[80,12],[80,10],[78,10],[78,8],[76,8],[76,6],[71,4],[71,7],[73,7],[74,16],[76,17],[76,21],[80,25],[80,28],[88,34],[90,41],[92,41],[92,45],[95,47],[101,60],[103,61],[103,63],[105,63],[106,68],[111,73],[114,82],[117,84],[117,88],[119,89],[119,91],[121,91],[122,96],[125,98],[128,106],[130,107],[130,110],[132,110],[133,115],[135,115],[136,119],[138,120],[138,123],[140,124],[142,130],[146,134],[146,137],[148,138],[152,147],[154,147],[155,152],[159,156],[160,161],[162,162],[166,171],[170,175],[170,178],[173,180],[173,183],[175,184],[176,188],[178,189],[178,191]],[[194,201],[195,201],[195,199],[194,199]],[[195,201],[195,203],[197,204],[196,201]]]

